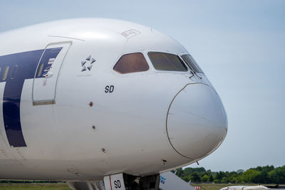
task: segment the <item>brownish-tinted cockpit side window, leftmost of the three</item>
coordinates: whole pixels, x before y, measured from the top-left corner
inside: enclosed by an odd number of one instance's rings
[[[146,71],[149,68],[142,53],[129,53],[120,57],[113,69],[118,73],[125,74]]]

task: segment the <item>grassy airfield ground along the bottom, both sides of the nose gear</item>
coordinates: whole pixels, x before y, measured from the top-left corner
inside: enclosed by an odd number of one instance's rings
[[[200,186],[201,190],[219,190],[225,186],[238,186],[238,185],[249,185],[254,186],[257,184],[191,184],[192,186]],[[0,184],[0,190],[70,190],[68,185],[65,183],[56,184]]]

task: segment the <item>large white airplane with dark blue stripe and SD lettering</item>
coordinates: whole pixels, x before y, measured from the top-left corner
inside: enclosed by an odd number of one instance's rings
[[[199,161],[226,137],[207,76],[153,28],[67,19],[0,41],[0,179],[158,189],[160,173]]]

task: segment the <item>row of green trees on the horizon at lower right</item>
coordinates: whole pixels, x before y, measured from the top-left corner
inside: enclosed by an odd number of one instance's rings
[[[232,184],[285,184],[285,165],[283,167],[255,167],[244,171],[211,171],[203,167],[177,169],[176,175],[185,181],[193,183],[232,183]]]

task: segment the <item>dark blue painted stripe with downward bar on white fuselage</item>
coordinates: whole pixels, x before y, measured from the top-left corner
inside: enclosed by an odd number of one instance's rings
[[[47,49],[45,53],[43,53],[44,50],[36,50],[0,56],[0,83],[6,82],[2,100],[3,119],[6,136],[11,147],[26,147],[20,118],[21,93],[24,80],[34,78],[42,54],[41,63],[44,63],[44,68],[48,65],[49,58],[58,56],[59,51],[54,53],[50,50]],[[14,65],[18,65],[18,68],[16,75],[11,77]],[[3,80],[4,70],[7,66],[9,66],[9,73],[6,80]],[[43,75],[41,74],[36,78],[43,78]]]

